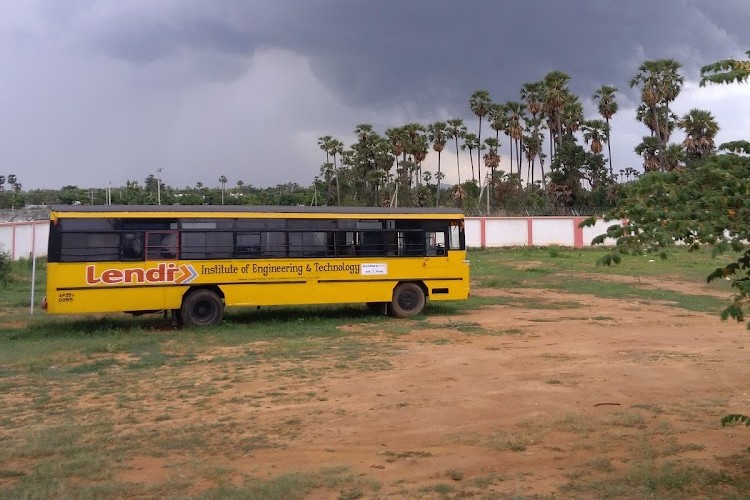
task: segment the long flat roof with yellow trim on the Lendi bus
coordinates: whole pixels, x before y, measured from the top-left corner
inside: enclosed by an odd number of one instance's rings
[[[432,207],[432,208],[396,208],[396,207],[309,207],[309,206],[265,206],[265,205],[51,205],[50,212],[56,215],[62,213],[75,214],[75,217],[90,215],[112,216],[117,213],[119,217],[148,217],[179,216],[179,214],[190,214],[192,217],[205,215],[224,216],[232,214],[258,216],[260,214],[300,214],[304,217],[311,215],[322,216],[415,216],[415,217],[463,217],[461,210],[456,208]]]

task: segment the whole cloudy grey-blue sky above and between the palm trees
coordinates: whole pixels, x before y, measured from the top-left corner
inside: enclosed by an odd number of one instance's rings
[[[748,85],[697,85],[701,66],[746,57],[748,19],[748,0],[0,0],[0,174],[24,189],[157,169],[174,187],[309,185],[323,135],[348,146],[361,123],[449,118],[476,133],[472,92],[518,100],[551,70],[587,118],[596,88],[620,89],[615,170],[640,168],[628,82],[648,59],[683,64],[676,113],[708,109],[718,142],[748,138]]]

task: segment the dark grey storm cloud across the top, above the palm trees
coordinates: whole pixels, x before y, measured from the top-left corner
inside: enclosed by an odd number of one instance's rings
[[[645,59],[698,68],[750,47],[750,2],[726,0],[412,0],[143,3],[92,47],[130,62],[181,50],[251,54],[280,47],[305,55],[316,76],[358,106],[465,106],[478,88],[498,100],[559,69],[574,90],[627,87]],[[451,97],[448,97],[451,96]]]

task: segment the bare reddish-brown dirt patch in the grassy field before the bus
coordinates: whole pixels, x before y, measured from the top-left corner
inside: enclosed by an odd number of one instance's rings
[[[365,342],[390,339],[389,368],[327,367],[310,380],[285,369],[298,363],[315,373],[322,360],[259,365],[251,381],[214,396],[199,413],[181,411],[177,399],[147,404],[172,405],[173,423],[233,420],[262,436],[263,446],[231,459],[226,449],[193,457],[233,470],[237,483],[245,474],[273,478],[344,465],[380,485],[352,498],[564,498],[564,485],[632,476],[662,462],[741,473],[738,457],[750,432],[723,428],[720,418],[750,407],[744,325],[668,305],[553,291],[472,293],[542,294],[585,306],[429,316],[434,329],[396,340],[373,331],[382,323],[352,325]],[[193,375],[215,378],[205,366]],[[271,391],[277,397],[248,404]],[[118,479],[162,482],[179,473],[170,464],[185,458],[136,457]],[[337,492],[317,489],[312,497]]]

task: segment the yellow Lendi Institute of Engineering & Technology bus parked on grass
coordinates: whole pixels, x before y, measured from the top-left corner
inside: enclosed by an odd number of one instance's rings
[[[50,210],[50,313],[364,302],[404,318],[469,296],[464,216],[446,208],[89,206]]]

